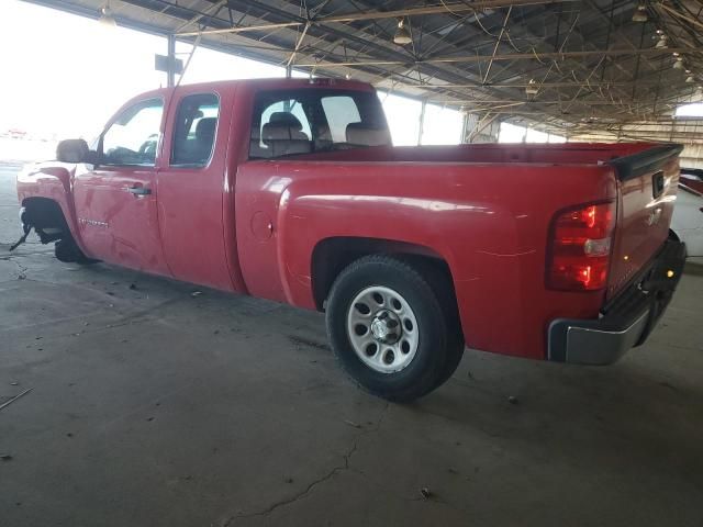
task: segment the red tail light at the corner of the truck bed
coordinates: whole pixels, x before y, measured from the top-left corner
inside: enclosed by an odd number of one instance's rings
[[[557,213],[547,258],[547,287],[596,291],[607,284],[615,203],[580,205]]]

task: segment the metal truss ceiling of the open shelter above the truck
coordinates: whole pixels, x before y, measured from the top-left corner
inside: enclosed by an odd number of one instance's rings
[[[32,1],[93,18],[105,4]],[[677,104],[702,98],[700,1],[110,0],[109,5],[124,26],[186,42],[200,38],[208,47],[315,75],[348,75],[464,106],[482,122],[511,119],[569,135],[627,135],[645,122],[666,127]],[[633,21],[638,8],[646,22]],[[408,45],[393,42],[400,19],[412,35]],[[682,130],[703,135],[698,127]]]

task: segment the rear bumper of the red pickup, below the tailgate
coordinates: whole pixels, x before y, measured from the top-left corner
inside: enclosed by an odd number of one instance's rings
[[[685,245],[669,239],[640,279],[598,319],[557,318],[548,330],[548,358],[558,362],[610,365],[643,344],[666,311],[679,283]],[[672,271],[671,277],[668,276]]]

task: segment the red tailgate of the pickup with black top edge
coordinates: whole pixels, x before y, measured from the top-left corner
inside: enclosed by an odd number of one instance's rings
[[[669,236],[681,145],[658,145],[609,161],[618,179],[617,225],[606,299],[655,257]]]

